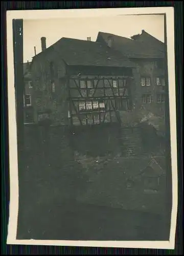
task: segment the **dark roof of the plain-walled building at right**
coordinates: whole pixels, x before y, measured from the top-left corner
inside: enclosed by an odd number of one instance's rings
[[[120,51],[129,58],[164,58],[164,50],[150,45],[144,41],[133,40],[130,38],[99,32],[96,41],[108,41],[111,38],[112,47]],[[153,46],[154,45],[154,46]]]

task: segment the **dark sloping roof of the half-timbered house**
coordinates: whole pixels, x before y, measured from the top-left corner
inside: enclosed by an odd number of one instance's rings
[[[52,50],[57,51],[66,64],[71,66],[134,67],[127,57],[100,42],[65,37],[34,56],[33,61]]]

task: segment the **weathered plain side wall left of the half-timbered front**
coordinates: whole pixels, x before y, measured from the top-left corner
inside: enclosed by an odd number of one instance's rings
[[[54,74],[51,75],[53,62]],[[67,87],[65,64],[57,53],[39,57],[32,63],[32,80],[34,86],[34,114],[38,122],[38,113],[50,112],[53,125],[67,124]],[[55,91],[52,92],[52,82]]]

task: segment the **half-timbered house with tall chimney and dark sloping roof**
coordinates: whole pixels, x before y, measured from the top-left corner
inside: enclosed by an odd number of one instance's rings
[[[52,124],[122,123],[132,110],[134,64],[100,42],[61,38],[33,57],[34,120]]]

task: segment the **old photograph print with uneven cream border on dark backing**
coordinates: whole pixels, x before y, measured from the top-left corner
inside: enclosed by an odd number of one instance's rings
[[[7,52],[7,243],[173,248],[173,8],[8,12]]]

